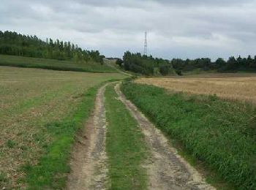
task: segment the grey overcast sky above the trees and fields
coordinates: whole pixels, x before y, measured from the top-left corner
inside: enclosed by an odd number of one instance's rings
[[[256,55],[256,0],[1,0],[0,30],[71,41],[105,56]]]

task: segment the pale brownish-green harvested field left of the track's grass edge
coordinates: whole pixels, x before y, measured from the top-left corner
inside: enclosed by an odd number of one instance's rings
[[[24,186],[21,167],[37,164],[87,89],[123,77],[0,66],[0,189]]]

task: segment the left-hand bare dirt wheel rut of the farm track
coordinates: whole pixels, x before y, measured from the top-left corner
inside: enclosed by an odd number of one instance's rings
[[[105,86],[99,88],[94,113],[77,136],[70,161],[67,189],[107,189],[108,168],[105,152],[106,118]]]

